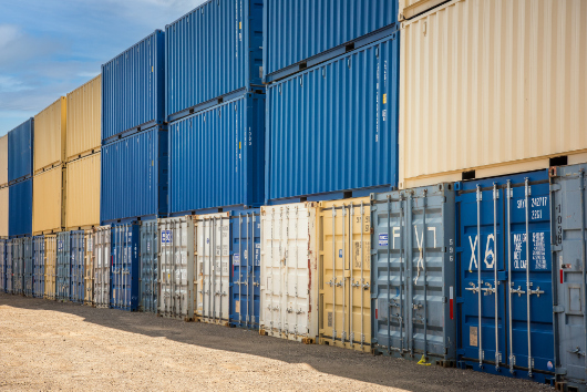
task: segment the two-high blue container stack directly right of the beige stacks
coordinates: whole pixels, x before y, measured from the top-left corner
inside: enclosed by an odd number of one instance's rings
[[[102,65],[101,223],[167,214],[164,39],[157,30]]]

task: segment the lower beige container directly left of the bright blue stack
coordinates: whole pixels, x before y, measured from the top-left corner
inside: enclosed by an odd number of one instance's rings
[[[92,154],[68,164],[65,180],[65,228],[100,226],[100,159]]]

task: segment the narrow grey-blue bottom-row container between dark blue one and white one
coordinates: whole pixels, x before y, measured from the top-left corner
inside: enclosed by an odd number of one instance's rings
[[[157,221],[144,221],[141,226],[141,310],[157,312]]]

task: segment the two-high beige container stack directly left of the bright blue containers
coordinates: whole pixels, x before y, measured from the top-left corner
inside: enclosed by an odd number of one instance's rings
[[[100,225],[102,75],[68,94],[65,228]]]

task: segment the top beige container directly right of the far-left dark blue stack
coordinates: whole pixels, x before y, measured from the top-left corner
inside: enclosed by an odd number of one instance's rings
[[[61,96],[34,116],[34,173],[65,161],[68,100]]]

